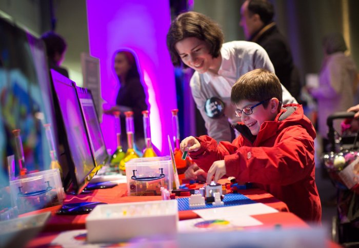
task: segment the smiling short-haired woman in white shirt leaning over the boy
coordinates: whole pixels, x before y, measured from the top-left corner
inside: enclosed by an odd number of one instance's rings
[[[238,119],[230,102],[231,88],[241,75],[256,68],[274,72],[266,51],[252,42],[224,43],[222,30],[204,14],[189,11],[178,15],[167,33],[173,65],[181,62],[195,70],[190,87],[209,136],[217,142],[231,141],[230,124]],[[284,104],[296,102],[283,87]],[[230,123],[230,124],[229,124]]]

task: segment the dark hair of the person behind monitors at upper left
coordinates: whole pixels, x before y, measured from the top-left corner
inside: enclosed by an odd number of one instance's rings
[[[44,40],[47,56],[51,59],[55,57],[56,53],[62,55],[67,48],[65,39],[53,31],[44,33],[41,39]]]

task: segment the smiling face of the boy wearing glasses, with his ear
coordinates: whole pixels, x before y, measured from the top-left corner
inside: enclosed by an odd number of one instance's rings
[[[242,100],[235,104],[237,110],[243,110],[247,107],[253,107],[258,104],[260,101],[249,101]],[[261,125],[263,122],[268,120],[274,120],[277,115],[279,101],[277,98],[272,98],[269,100],[269,104],[267,108],[264,108],[263,104],[258,105],[252,109],[253,113],[250,115],[246,115],[242,112],[241,120],[245,125],[249,128],[252,135],[257,135],[260,131]]]

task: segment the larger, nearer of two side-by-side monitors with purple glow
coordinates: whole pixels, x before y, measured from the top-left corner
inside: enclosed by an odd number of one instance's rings
[[[51,76],[55,95],[58,100],[58,114],[62,115],[63,129],[59,127],[58,137],[64,146],[65,152],[60,160],[67,164],[70,175],[65,178],[64,188],[67,192],[80,193],[91,179],[91,172],[95,168],[90,142],[86,131],[81,106],[77,98],[75,82],[51,69]],[[66,139],[65,139],[66,138]],[[71,180],[71,183],[69,183]],[[71,184],[71,187],[69,187]]]

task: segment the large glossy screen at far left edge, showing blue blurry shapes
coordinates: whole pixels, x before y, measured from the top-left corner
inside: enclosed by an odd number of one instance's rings
[[[16,154],[13,130],[20,130],[26,173],[50,169],[50,134],[55,118],[46,49],[41,39],[0,18],[0,188],[9,185],[7,156]],[[49,125],[50,124],[50,125]],[[50,132],[46,127],[51,127]],[[51,151],[50,151],[51,150]],[[18,177],[15,159],[14,177]]]

